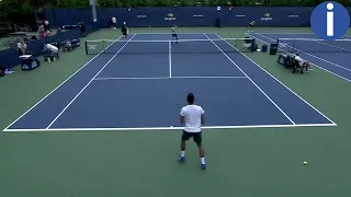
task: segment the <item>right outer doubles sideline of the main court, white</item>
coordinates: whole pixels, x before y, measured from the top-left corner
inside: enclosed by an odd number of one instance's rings
[[[245,33],[248,36],[251,36],[247,33]],[[218,37],[220,37],[219,35],[217,35]],[[251,36],[254,37],[254,36]],[[269,44],[260,38],[254,37],[256,39],[261,40],[262,43]],[[226,40],[225,40],[226,42]],[[228,42],[227,42],[228,43]],[[228,43],[228,45],[230,45],[230,43]],[[233,45],[230,45],[231,47],[234,47]],[[235,48],[235,47],[234,47]],[[240,54],[242,54],[240,51]],[[331,120],[329,117],[327,117],[325,114],[322,114],[320,111],[318,111],[315,106],[313,106],[310,103],[308,103],[306,100],[304,100],[303,97],[301,97],[296,92],[294,92],[292,89],[290,89],[288,86],[286,86],[283,82],[281,82],[279,79],[276,79],[273,74],[271,74],[269,71],[267,71],[265,69],[263,69],[260,65],[258,65],[257,62],[254,62],[251,58],[249,58],[247,55],[242,54],[242,56],[245,56],[246,58],[248,58],[250,61],[252,61],[257,67],[259,67],[261,70],[263,70],[267,74],[269,74],[271,78],[273,78],[276,82],[279,82],[281,85],[285,86],[285,89],[287,89],[291,93],[293,93],[295,96],[297,96],[301,101],[303,101],[304,103],[306,103],[309,107],[312,107],[313,109],[315,109],[318,114],[320,114],[322,117],[325,117],[326,119],[328,119],[332,125],[337,125],[333,120]]]

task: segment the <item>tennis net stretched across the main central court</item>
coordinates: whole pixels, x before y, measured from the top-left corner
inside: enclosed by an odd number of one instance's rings
[[[254,39],[86,40],[86,54],[216,54],[253,51]]]

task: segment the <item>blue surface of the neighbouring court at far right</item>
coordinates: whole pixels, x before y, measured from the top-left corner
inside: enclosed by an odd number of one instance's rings
[[[306,40],[280,42],[281,50],[297,50],[299,56],[316,67],[351,82],[351,39],[344,36],[343,40],[321,42],[315,34],[309,33],[250,33],[252,38],[263,43],[274,43],[278,38],[306,38]]]

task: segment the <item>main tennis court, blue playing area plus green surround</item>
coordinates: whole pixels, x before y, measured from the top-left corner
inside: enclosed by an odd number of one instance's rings
[[[31,72],[15,68],[0,82],[9,90],[0,96],[0,196],[350,196],[350,83],[319,68],[293,74],[278,55],[220,39],[247,31],[185,27],[179,30],[184,42],[169,47],[169,27],[131,28],[135,36],[118,42],[118,32],[100,30],[55,63],[43,61]],[[97,42],[90,54],[86,55],[87,39],[106,44]],[[184,105],[189,91],[211,128],[203,131],[206,171],[192,141],[188,161],[177,161],[177,103]],[[131,114],[118,117],[123,112]]]

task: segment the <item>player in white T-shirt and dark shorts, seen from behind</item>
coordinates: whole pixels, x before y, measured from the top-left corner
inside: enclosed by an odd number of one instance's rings
[[[201,169],[205,170],[206,169],[206,163],[205,163],[205,150],[202,144],[202,132],[201,132],[201,124],[205,123],[205,115],[204,115],[204,109],[194,104],[195,97],[194,94],[189,93],[188,97],[188,105],[184,106],[181,112],[180,112],[180,123],[185,124],[182,139],[181,139],[181,144],[180,144],[180,155],[179,155],[179,161],[183,162],[185,159],[185,141],[188,141],[190,138],[193,138],[194,141],[197,144],[199,148],[199,154],[201,158]]]

